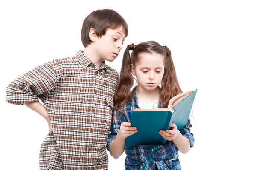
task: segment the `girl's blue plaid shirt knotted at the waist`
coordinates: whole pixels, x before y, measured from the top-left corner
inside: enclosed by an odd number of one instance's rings
[[[127,102],[123,108],[124,116],[121,116],[120,111],[116,111],[112,118],[111,133],[108,136],[107,150],[109,150],[110,143],[116,138],[120,130],[122,122],[130,122],[132,111],[138,107],[137,96],[135,93],[137,87],[132,91],[134,94],[131,101]],[[159,101],[159,108],[163,108],[161,100]],[[189,139],[190,147],[194,145],[193,133],[190,133],[190,119],[186,126],[180,129],[180,133]],[[125,163],[128,165],[140,165],[143,170],[154,170],[155,164],[158,169],[168,170],[172,169],[171,160],[178,159],[178,149],[172,141],[165,145],[139,145],[136,147],[125,147],[126,159]]]

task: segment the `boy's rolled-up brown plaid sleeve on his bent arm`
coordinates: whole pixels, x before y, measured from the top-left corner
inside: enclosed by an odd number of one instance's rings
[[[39,102],[55,87],[57,78],[51,63],[38,66],[12,81],[6,88],[6,102],[23,105]]]

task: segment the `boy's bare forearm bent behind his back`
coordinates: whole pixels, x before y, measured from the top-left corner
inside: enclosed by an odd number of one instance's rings
[[[48,116],[48,113],[47,113],[47,109],[44,107],[44,105],[42,105],[39,102],[24,103],[24,105],[27,106],[28,108],[32,109],[33,111],[35,111],[39,115],[41,115],[48,123],[49,133],[52,132],[52,125],[50,123],[50,119],[49,119],[49,116]]]

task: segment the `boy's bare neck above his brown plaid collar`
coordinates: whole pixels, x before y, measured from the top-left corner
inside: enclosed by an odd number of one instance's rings
[[[93,62],[96,65],[96,68],[99,69],[100,66],[102,65],[102,62],[104,61],[104,59],[102,59],[102,57],[100,57],[97,53],[96,50],[93,48],[92,45],[88,45],[83,54],[91,60],[91,62]]]

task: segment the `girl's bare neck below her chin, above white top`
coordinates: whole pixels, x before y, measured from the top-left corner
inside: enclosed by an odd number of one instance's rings
[[[159,89],[155,88],[152,91],[145,90],[139,86],[136,89],[137,99],[141,102],[154,102],[159,96]]]

